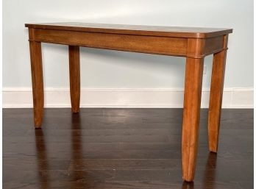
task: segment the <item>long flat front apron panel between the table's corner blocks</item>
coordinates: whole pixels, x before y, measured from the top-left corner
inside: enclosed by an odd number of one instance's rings
[[[118,35],[54,29],[37,29],[35,41],[174,56],[185,56],[187,45],[185,38]]]

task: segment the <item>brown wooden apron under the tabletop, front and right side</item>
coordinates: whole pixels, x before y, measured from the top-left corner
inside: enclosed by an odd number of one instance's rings
[[[29,30],[29,40],[31,41],[147,54],[202,58],[224,49],[224,36],[206,39],[195,38],[194,40],[200,40],[200,43],[203,44],[203,49],[200,50],[200,53],[191,54],[188,53],[188,39],[191,38],[78,32],[59,29],[30,28]]]

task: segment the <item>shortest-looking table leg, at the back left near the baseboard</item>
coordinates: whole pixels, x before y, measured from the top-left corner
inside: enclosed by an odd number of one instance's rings
[[[69,80],[71,107],[73,113],[79,113],[80,105],[80,57],[79,46],[68,46]]]

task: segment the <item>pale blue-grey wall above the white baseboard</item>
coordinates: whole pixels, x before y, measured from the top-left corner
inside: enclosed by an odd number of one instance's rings
[[[253,0],[3,0],[4,90],[31,88],[24,24],[59,21],[233,28],[224,87],[253,88]],[[45,88],[68,88],[67,46],[43,44],[43,72]],[[182,57],[81,48],[82,88],[183,88],[184,74]]]

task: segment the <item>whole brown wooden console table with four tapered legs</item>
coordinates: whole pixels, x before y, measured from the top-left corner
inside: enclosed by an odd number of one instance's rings
[[[208,118],[209,149],[218,149],[228,34],[232,29],[117,24],[25,24],[29,28],[35,128],[43,119],[41,43],[68,45],[71,107],[79,112],[79,46],[186,57],[182,124],[182,174],[193,181],[199,132],[204,57],[213,54]]]

